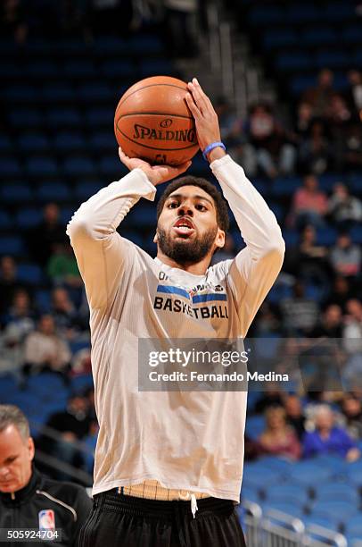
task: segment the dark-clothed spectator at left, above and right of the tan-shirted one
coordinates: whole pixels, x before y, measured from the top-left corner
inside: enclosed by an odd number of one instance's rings
[[[56,331],[68,340],[78,332],[78,316],[68,290],[57,287],[52,293],[52,316]]]

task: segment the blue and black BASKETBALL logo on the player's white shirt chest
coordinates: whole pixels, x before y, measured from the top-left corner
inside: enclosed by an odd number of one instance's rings
[[[162,281],[165,281],[164,278]],[[198,306],[200,304],[204,305]],[[228,319],[226,290],[222,285],[210,282],[196,285],[192,289],[160,283],[153,307],[196,319]]]

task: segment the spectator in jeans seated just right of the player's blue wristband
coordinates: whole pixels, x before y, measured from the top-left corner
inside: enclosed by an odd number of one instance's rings
[[[294,172],[295,148],[287,130],[276,120],[270,106],[252,106],[243,131],[249,143],[244,146],[243,161],[248,175],[255,176],[261,169],[274,179],[279,173],[288,175]]]

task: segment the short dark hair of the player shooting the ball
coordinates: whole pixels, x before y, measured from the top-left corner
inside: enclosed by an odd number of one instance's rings
[[[218,227],[221,228],[221,230],[227,232],[229,229],[229,215],[227,212],[225,199],[221,196],[218,189],[216,189],[215,186],[211,184],[211,182],[200,177],[193,177],[193,175],[181,177],[180,179],[177,179],[176,181],[173,181],[168,185],[168,187],[161,195],[159,203],[157,204],[157,220],[159,220],[166,199],[169,198],[169,195],[172,194],[172,192],[181,188],[182,186],[198,186],[199,188],[203,189],[207,194],[209,194],[209,196],[214,200],[216,206]]]

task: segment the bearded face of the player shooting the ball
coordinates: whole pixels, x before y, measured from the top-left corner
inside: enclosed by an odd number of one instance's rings
[[[225,232],[218,228],[213,199],[197,186],[182,186],[165,201],[155,241],[177,264],[196,264],[223,247]]]

